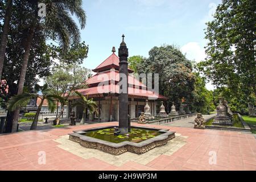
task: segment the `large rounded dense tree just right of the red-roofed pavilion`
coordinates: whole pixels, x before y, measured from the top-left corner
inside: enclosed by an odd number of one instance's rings
[[[153,47],[148,59],[139,63],[137,69],[139,73],[159,73],[159,93],[168,97],[167,110],[172,101],[180,104],[183,97],[187,104],[192,102],[195,82],[192,64],[177,47]]]

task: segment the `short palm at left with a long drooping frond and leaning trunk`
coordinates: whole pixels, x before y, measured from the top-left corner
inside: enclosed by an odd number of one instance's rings
[[[37,91],[40,90],[42,92],[43,94],[42,96],[39,97],[37,93],[22,93],[22,94],[11,97],[7,104],[7,109],[10,111],[13,111],[17,107],[26,106],[31,98],[36,98],[41,100],[38,106],[38,110],[36,111],[35,118],[30,127],[30,130],[36,130],[36,126],[38,125],[39,114],[40,114],[44,100],[47,100],[48,107],[51,110],[51,112],[53,112],[56,107],[56,100],[63,102],[62,97],[57,96],[55,94],[51,94],[52,90],[48,88],[47,84],[44,84],[43,86],[36,86],[36,87],[38,88],[36,89]]]

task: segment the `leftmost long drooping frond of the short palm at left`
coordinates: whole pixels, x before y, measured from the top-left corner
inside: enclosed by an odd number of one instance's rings
[[[28,104],[31,98],[36,97],[35,93],[23,93],[10,98],[7,102],[7,109],[10,111],[14,111],[19,107],[24,107]]]

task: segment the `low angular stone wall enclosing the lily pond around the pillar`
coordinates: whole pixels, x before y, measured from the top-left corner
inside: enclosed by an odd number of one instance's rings
[[[114,127],[114,126],[108,126],[108,127]],[[112,143],[105,140],[82,135],[89,130],[104,129],[104,128],[107,128],[107,127],[97,127],[97,128],[88,129],[88,130],[74,131],[74,133],[69,134],[69,140],[80,143],[82,147],[94,148],[103,152],[107,152],[112,155],[120,155],[127,151],[132,152],[134,154],[143,154],[144,152],[147,152],[152,148],[163,146],[164,144],[167,144],[168,140],[175,138],[175,132],[162,130],[162,129],[159,129],[159,132],[163,134],[160,134],[154,138],[150,138],[139,143],[134,143],[129,141],[121,142],[121,143]],[[139,127],[139,128],[150,129],[149,127]]]

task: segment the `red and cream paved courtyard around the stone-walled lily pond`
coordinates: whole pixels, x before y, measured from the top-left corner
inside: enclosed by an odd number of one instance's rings
[[[256,170],[256,139],[249,133],[150,125],[176,131],[176,138],[142,155],[119,156],[68,140],[73,130],[113,124],[118,125],[106,122],[0,135],[0,170]],[[46,164],[40,164],[42,154]],[[209,164],[214,155],[216,164]]]

